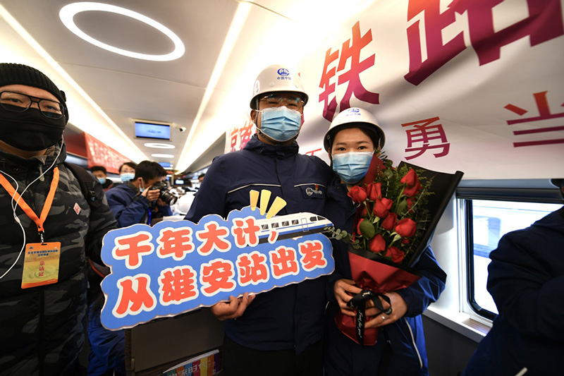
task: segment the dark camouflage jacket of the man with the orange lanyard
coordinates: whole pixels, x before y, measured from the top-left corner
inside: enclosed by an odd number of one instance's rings
[[[102,238],[116,227],[97,183],[102,205],[88,205],[77,178],[63,164],[66,147],[51,147],[47,156],[23,159],[0,150],[0,171],[39,216],[53,169],[59,186],[44,222],[44,241],[61,242],[59,281],[22,289],[25,243],[39,243],[36,224],[18,206],[14,219],[11,196],[0,186],[0,375],[74,375],[75,360],[85,341],[87,257],[99,263]],[[24,237],[25,235],[25,237]]]

